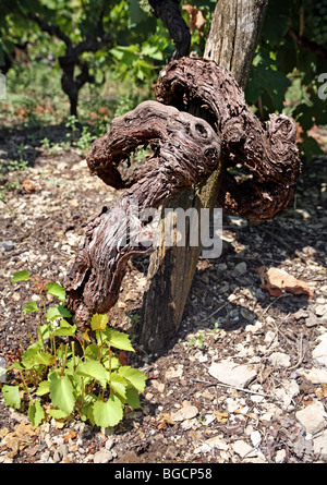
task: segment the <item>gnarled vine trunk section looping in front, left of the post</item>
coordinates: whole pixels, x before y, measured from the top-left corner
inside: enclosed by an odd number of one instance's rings
[[[145,144],[153,157],[137,181],[89,220],[84,247],[69,274],[68,306],[82,329],[94,313],[114,305],[128,258],[148,251],[147,225],[133,211],[135,204],[140,210],[158,206],[213,172],[220,158],[220,138],[206,121],[145,101],[114,119],[108,134],[94,144],[90,171],[120,187],[118,163]]]

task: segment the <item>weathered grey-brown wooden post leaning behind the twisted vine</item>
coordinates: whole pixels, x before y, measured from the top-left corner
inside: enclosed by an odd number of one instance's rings
[[[228,69],[245,87],[268,0],[218,0],[205,59]],[[198,117],[203,113],[193,112]],[[222,155],[223,157],[223,155]],[[214,209],[223,178],[223,160],[202,186],[186,190],[162,205],[165,208]],[[199,216],[198,216],[199,219]],[[164,223],[164,222],[162,222]],[[189,228],[190,229],[190,228]],[[187,228],[186,228],[187,231]],[[187,241],[187,232],[186,232]],[[196,270],[202,246],[165,246],[150,256],[147,290],[138,329],[140,343],[147,351],[165,347],[177,334]]]

